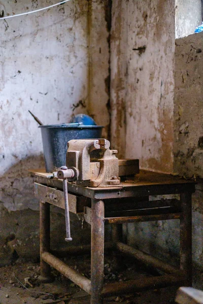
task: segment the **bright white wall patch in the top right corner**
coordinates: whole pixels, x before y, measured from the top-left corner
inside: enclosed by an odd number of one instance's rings
[[[201,0],[176,0],[176,38],[194,33],[202,21]]]

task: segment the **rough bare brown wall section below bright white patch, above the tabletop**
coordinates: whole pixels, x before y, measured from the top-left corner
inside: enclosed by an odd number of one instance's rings
[[[174,170],[203,177],[203,33],[176,40]]]

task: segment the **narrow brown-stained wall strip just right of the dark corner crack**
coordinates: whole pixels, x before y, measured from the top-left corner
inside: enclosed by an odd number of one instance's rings
[[[111,30],[111,147],[125,156],[127,72],[127,2],[113,0]]]

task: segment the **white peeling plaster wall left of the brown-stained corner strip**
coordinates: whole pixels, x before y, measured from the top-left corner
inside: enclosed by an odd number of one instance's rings
[[[52,3],[7,2],[1,10]],[[0,22],[0,201],[10,210],[35,209],[27,169],[44,166],[41,132],[28,109],[44,124],[69,122],[74,105],[88,97],[87,12],[86,1],[73,1]]]

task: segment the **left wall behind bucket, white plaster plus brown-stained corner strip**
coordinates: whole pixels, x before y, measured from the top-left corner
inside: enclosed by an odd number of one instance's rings
[[[12,15],[53,3],[4,2],[0,13]],[[108,136],[107,8],[108,0],[73,0],[37,14],[0,21],[0,210],[10,216],[8,220],[4,216],[0,239],[15,233],[30,252],[33,248],[27,243],[27,234],[39,235],[39,208],[28,169],[43,167],[44,160],[41,132],[28,110],[44,124],[69,122],[73,113],[88,113],[106,127],[104,136]],[[23,235],[22,229],[8,226],[7,221],[17,216],[10,212],[24,209],[18,213],[18,224],[27,227]],[[60,225],[60,214],[58,221]],[[23,252],[23,248],[18,250]]]

